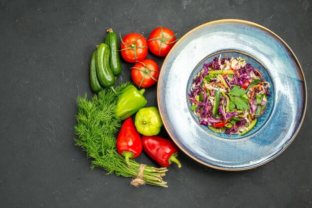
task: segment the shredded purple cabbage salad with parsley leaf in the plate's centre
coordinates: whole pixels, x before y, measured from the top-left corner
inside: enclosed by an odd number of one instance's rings
[[[244,135],[263,115],[270,84],[257,69],[238,58],[215,57],[194,77],[190,110],[217,133]]]

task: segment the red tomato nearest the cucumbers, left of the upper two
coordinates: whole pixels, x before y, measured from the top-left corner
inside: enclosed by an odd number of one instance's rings
[[[142,61],[148,55],[148,41],[138,33],[130,33],[121,41],[121,56],[130,63]]]

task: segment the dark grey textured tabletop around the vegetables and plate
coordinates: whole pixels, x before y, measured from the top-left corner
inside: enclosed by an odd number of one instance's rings
[[[161,25],[181,37],[211,20],[253,21],[294,50],[309,94],[311,7],[311,0],[0,0],[0,207],[311,207],[311,105],[296,139],[274,161],[224,172],[180,153],[182,168],[169,167],[166,189],[135,188],[130,178],[90,170],[73,141],[76,97],[92,95],[89,61],[106,29],[148,37]],[[131,79],[132,66],[123,62],[119,81]],[[146,97],[156,105],[156,86]],[[157,165],[145,153],[137,161]]]

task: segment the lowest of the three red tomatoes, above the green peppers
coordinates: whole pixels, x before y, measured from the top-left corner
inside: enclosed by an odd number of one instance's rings
[[[132,80],[139,87],[149,88],[158,80],[159,67],[151,59],[138,62],[131,69]]]

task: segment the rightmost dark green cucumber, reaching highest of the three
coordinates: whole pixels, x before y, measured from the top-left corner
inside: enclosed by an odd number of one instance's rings
[[[121,74],[121,61],[118,52],[118,39],[113,29],[110,28],[107,30],[108,34],[105,38],[105,43],[110,48],[110,68],[113,74],[117,77]]]

